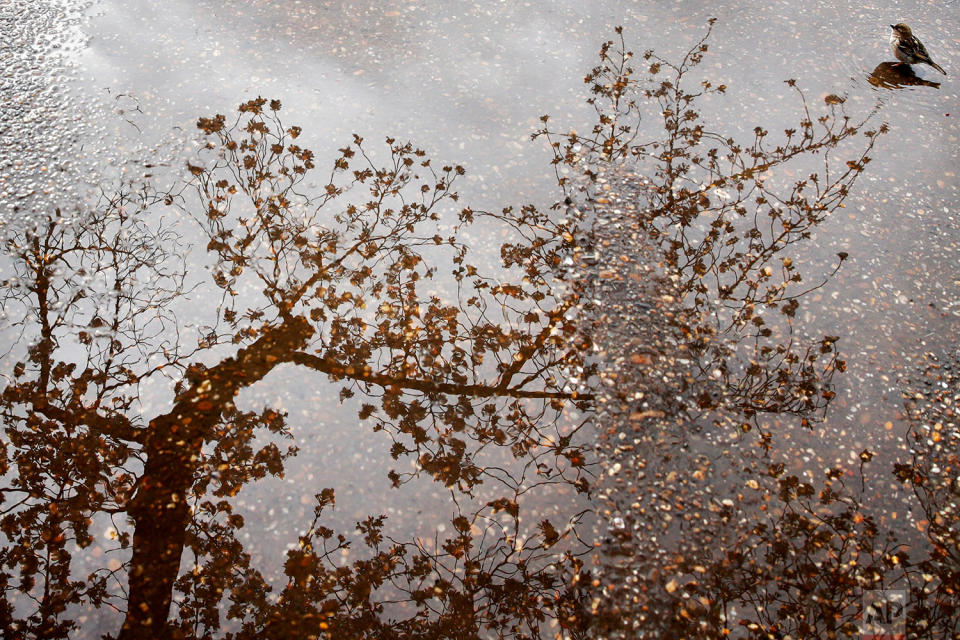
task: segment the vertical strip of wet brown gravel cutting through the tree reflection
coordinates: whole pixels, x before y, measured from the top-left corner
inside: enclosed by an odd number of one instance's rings
[[[637,222],[635,180],[625,171],[604,171],[596,197],[584,205],[595,215],[596,264],[585,282],[602,363],[595,416],[601,530],[591,567],[598,576],[592,614],[601,636],[613,637],[651,630],[651,587],[673,590],[672,576],[661,571],[668,548],[661,536],[670,546],[701,545],[708,534],[698,528],[698,511],[720,506],[715,480],[726,473],[712,460],[718,432],[695,401],[709,382],[700,379],[687,345],[704,325],[681,305],[677,276],[665,271],[659,249]]]

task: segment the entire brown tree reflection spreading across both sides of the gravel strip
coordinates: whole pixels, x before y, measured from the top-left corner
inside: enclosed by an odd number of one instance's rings
[[[871,515],[869,451],[816,474],[731,454],[729,436],[750,431],[773,449],[765,415],[810,424],[833,397],[839,338],[801,338],[794,323],[846,256],[807,283],[790,253],[843,204],[883,127],[852,121],[836,96],[816,115],[798,90],[779,142],[761,127],[737,142],[695,108],[726,87],[686,88],[706,52],[706,37],[679,64],[646,52],[645,82],[622,37],[608,42],[587,77],[591,134],[546,118],[539,132],[568,190],[564,165],[642,168],[636,222],[673,278],[666,330],[690,354],[672,379],[654,366],[619,378],[629,402],[649,383],[653,406],[633,413],[650,422],[623,449],[646,484],[625,492],[599,570],[582,513],[528,522],[524,510],[536,485],[593,488],[584,425],[561,421],[593,400],[572,390],[597,371],[575,317],[589,283],[552,280],[590,230],[528,206],[461,209],[441,232],[462,168],[395,140],[378,164],[357,137],[317,178],[300,129],[256,99],[236,120],[199,121],[208,144],[177,189],[129,186],[5,230],[0,295],[22,346],[0,393],[3,635],[82,637],[112,611],[119,638],[824,638],[854,633],[861,592],[887,587],[917,603],[915,637],[955,635],[957,365],[906,387],[914,457],[895,473],[925,546]],[[656,140],[638,138],[644,100],[662,117]],[[784,177],[810,157],[823,171]],[[512,231],[496,278],[458,239],[477,219]],[[187,269],[184,228],[203,237],[203,268]],[[304,425],[235,400],[281,366],[357,396],[360,421],[391,439],[394,486],[424,476],[449,491],[448,533],[405,538],[376,513],[359,534],[336,531],[336,488],[316,487],[282,567],[257,566],[230,498],[282,475]],[[167,401],[145,397],[163,383]],[[691,435],[705,424],[716,450]],[[510,464],[487,465],[491,451]],[[468,500],[481,489],[494,497]],[[108,524],[112,547],[93,533]]]

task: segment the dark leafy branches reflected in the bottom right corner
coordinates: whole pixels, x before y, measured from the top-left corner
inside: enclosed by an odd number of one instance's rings
[[[660,614],[651,627],[671,637],[729,637],[725,628],[742,638],[852,637],[864,592],[893,589],[907,592],[905,637],[956,637],[956,367],[955,356],[934,359],[904,382],[912,458],[895,474],[917,498],[926,545],[913,532],[888,530],[887,514],[870,504],[871,452],[860,454],[859,471],[830,469],[816,484],[770,465],[748,476],[746,498],[719,505],[712,550],[677,554],[662,567],[669,577],[651,589],[650,608]]]

